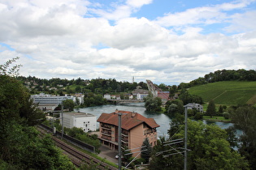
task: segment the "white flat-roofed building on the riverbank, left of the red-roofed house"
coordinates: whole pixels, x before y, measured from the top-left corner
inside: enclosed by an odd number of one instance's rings
[[[96,117],[91,113],[63,113],[63,126],[81,128],[84,132],[96,131]]]

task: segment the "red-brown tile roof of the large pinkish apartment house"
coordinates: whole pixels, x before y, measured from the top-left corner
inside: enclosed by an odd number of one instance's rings
[[[132,128],[136,127],[137,125],[141,125],[141,123],[144,123],[144,122],[146,125],[149,125],[151,128],[157,128],[160,126],[154,121],[154,118],[146,118],[139,113],[132,113],[132,112],[121,111],[121,110],[118,110],[115,113],[102,113],[102,115],[98,117],[97,121],[118,126],[117,113],[123,113],[122,129],[124,130],[131,130]]]

